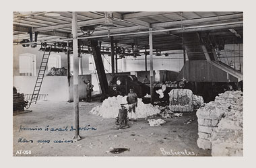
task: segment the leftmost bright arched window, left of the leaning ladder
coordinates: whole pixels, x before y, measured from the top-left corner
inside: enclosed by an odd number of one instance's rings
[[[20,75],[21,76],[36,76],[36,55],[35,54],[20,54]]]

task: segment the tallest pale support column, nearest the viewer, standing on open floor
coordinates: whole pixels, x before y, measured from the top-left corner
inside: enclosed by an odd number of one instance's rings
[[[72,13],[73,34],[73,128],[75,129],[75,140],[79,136],[79,92],[78,92],[78,40],[77,40],[77,13]]]

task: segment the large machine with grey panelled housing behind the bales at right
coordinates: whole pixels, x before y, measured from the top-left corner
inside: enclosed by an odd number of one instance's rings
[[[243,74],[216,60],[188,60],[177,80],[185,79],[185,88],[203,96],[205,102],[214,100],[219,93],[243,90]]]

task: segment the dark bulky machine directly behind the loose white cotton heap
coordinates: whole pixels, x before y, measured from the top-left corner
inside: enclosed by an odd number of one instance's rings
[[[135,75],[114,75],[109,84],[109,95],[115,95],[115,89],[121,93],[121,95],[127,95],[129,89],[133,87],[134,92],[139,98],[150,94],[150,87],[138,81]]]

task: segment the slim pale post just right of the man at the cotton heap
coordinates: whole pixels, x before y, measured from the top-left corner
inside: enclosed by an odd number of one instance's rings
[[[152,28],[150,28],[150,31],[152,31]],[[152,32],[150,32],[150,101],[153,104],[154,103],[154,81],[153,81],[153,40],[152,40]]]

